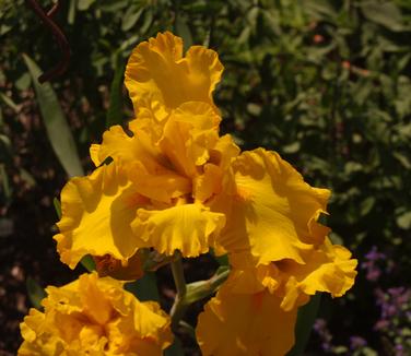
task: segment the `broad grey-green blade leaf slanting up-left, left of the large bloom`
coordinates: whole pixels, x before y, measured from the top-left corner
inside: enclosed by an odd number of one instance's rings
[[[23,58],[33,79],[38,106],[51,147],[70,177],[82,176],[83,168],[80,163],[74,139],[56,93],[49,83],[38,83],[37,78],[42,74],[40,69],[27,55],[23,55]]]

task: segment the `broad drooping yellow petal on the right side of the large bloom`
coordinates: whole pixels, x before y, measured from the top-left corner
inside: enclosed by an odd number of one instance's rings
[[[274,152],[245,152],[232,164],[236,194],[227,226],[218,242],[231,252],[246,251],[258,263],[291,259],[321,244],[329,232],[316,222],[326,212],[329,191],[308,186]]]

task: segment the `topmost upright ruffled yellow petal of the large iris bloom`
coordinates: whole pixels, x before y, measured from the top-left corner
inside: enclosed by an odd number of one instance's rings
[[[169,32],[139,44],[126,68],[125,83],[136,112],[160,102],[177,108],[185,102],[203,102],[214,107],[212,92],[223,66],[218,54],[193,46],[183,58],[183,40]]]

